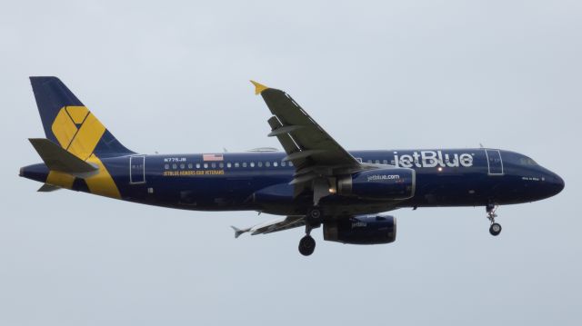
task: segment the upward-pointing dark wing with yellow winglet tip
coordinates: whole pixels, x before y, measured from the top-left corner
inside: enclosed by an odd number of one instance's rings
[[[271,133],[283,145],[286,161],[293,162],[296,170],[317,166],[330,168],[358,168],[356,158],[334,140],[316,121],[297,104],[289,94],[265,85],[255,84],[273,114],[268,120]]]

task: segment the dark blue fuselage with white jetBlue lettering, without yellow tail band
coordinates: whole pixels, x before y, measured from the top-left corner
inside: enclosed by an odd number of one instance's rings
[[[403,201],[330,193],[321,206],[331,215],[386,212],[401,207],[528,203],[559,193],[564,181],[529,157],[490,149],[351,152],[358,161],[414,169],[413,195]],[[305,214],[309,191],[294,194],[295,167],[285,153],[156,154],[102,158],[122,200],[204,210]],[[21,175],[45,182],[45,164]],[[91,192],[81,179],[73,190]]]

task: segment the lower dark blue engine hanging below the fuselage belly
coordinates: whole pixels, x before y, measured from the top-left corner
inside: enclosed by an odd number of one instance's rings
[[[390,243],[396,240],[394,216],[360,215],[324,223],[324,240],[351,244]]]

